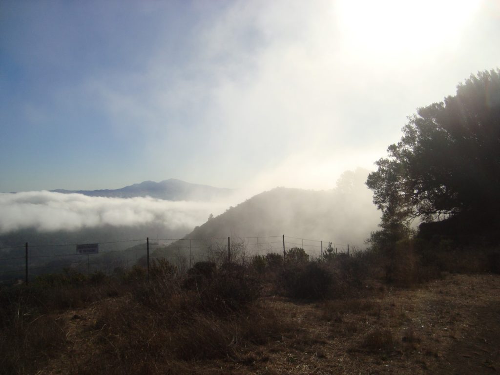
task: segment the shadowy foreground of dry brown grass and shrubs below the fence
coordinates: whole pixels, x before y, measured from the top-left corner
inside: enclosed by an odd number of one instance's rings
[[[0,368],[39,375],[500,368],[500,276],[446,273],[419,283],[413,267],[408,289],[405,282],[352,280],[365,272],[362,259],[321,265],[333,275],[326,286],[334,292],[314,301],[275,294],[281,269],[255,278],[251,267],[213,268],[188,272],[186,281],[165,262],[149,282],[136,268],[120,279],[75,275],[2,290],[0,349],[7,355]]]

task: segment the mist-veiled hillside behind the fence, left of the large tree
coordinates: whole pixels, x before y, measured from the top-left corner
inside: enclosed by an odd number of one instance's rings
[[[363,246],[379,212],[364,185],[368,171],[346,171],[331,190],[276,187],[209,219],[186,238],[289,235]]]

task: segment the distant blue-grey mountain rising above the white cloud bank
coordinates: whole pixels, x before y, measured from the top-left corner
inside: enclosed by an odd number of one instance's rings
[[[164,181],[143,181],[119,189],[101,190],[50,190],[60,193],[79,193],[88,196],[106,196],[117,198],[132,198],[135,196],[150,196],[165,200],[197,200],[207,201],[225,197],[233,192],[232,189],[219,188],[208,185],[184,182],[179,179],[165,179]]]

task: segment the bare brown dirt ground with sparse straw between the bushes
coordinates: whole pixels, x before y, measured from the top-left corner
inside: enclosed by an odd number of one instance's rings
[[[197,374],[494,374],[500,371],[500,276],[445,275],[413,289],[366,285],[370,297],[300,303],[262,298],[288,329],[237,358],[182,363]],[[77,373],[99,303],[66,312],[65,349],[38,374]],[[174,370],[171,373],[175,373]]]

